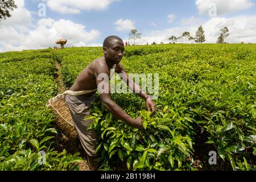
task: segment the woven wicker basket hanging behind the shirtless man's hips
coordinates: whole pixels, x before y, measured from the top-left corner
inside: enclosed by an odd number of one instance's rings
[[[56,114],[56,125],[65,137],[71,140],[78,138],[73,119],[65,101],[65,95],[59,94],[56,97],[51,98],[47,101],[46,106],[52,109],[53,114]]]

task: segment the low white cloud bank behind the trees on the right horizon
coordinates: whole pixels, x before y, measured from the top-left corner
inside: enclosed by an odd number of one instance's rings
[[[229,28],[229,36],[225,39],[228,43],[256,43],[256,15],[254,16],[234,16],[232,18],[211,18],[209,20],[202,21],[205,31],[205,43],[216,43],[218,36],[220,36],[220,28],[227,26]],[[196,22],[189,26],[181,26],[174,28],[167,28],[164,30],[151,31],[147,34],[143,34],[141,39],[136,40],[136,44],[151,44],[156,42],[169,43],[168,38],[172,35],[181,36],[183,32],[188,31],[191,36],[195,36],[195,32],[199,24]],[[125,40],[126,41],[126,40]],[[128,39],[127,39],[128,41]],[[185,41],[183,41],[185,43]],[[190,43],[187,41],[187,43]]]

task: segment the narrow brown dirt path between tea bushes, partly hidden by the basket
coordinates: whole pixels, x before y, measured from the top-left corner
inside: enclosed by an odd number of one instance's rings
[[[55,67],[56,67],[55,76],[56,76],[57,85],[58,85],[58,93],[60,94],[60,93],[65,92],[66,89],[65,89],[65,86],[61,82],[61,75],[60,75],[61,64],[58,61],[56,61]],[[77,139],[75,141],[71,141],[67,137],[65,137],[65,135],[60,133],[56,137],[56,143],[57,143],[57,146],[59,147],[58,149],[60,151],[65,149],[70,154],[75,154],[76,152],[80,152],[80,157],[85,159],[86,154],[85,154],[84,149],[81,146],[79,139]],[[88,163],[86,162],[86,160],[79,163],[79,171],[90,171],[90,167],[89,167]]]

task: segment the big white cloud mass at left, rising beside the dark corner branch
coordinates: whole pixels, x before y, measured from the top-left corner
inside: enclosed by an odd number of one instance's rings
[[[67,47],[88,46],[100,37],[100,31],[87,31],[84,25],[66,19],[42,18],[32,24],[24,0],[15,0],[15,4],[18,9],[12,11],[11,18],[0,23],[0,52],[54,47],[60,38],[68,40]]]

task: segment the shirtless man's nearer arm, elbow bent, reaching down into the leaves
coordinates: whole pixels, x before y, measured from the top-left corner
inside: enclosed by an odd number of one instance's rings
[[[137,119],[131,118],[125,111],[122,110],[110,97],[110,85],[108,79],[108,69],[102,68],[103,70],[96,70],[96,80],[98,86],[98,92],[104,107],[115,117],[126,122],[128,125],[143,129],[141,117]]]

